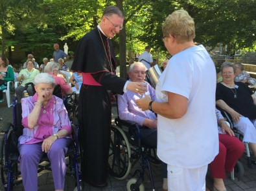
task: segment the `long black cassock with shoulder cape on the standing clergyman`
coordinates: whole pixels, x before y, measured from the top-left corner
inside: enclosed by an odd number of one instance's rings
[[[107,57],[109,49],[111,56]],[[90,73],[93,79],[102,85],[82,85],[79,94],[78,119],[84,150],[82,177],[92,185],[104,185],[108,175],[110,149],[110,95],[111,91],[123,94],[126,80],[112,74],[115,70],[113,46],[110,39],[107,39],[98,28],[91,30],[80,39],[71,70]]]

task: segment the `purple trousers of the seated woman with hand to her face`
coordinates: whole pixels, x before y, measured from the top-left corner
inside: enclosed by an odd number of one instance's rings
[[[71,143],[71,139],[57,139],[47,153],[51,162],[52,177],[55,190],[63,190],[65,184],[65,154]],[[41,143],[36,144],[18,144],[19,149],[19,168],[23,179],[25,191],[38,190],[38,164],[43,152],[41,151]]]

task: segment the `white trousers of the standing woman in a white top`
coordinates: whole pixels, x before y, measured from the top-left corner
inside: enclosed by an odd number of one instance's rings
[[[200,168],[180,168],[167,165],[168,190],[205,191],[207,166]]]

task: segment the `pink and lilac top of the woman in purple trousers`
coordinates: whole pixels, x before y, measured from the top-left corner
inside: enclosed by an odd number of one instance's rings
[[[54,95],[52,95],[52,98],[48,101],[45,108],[41,108],[37,125],[32,129],[28,128],[28,116],[30,112],[32,112],[37,99],[37,93],[33,96],[21,99],[21,123],[24,128],[23,135],[19,137],[19,143],[40,143],[47,137],[52,136],[52,134],[56,134],[56,132],[62,129],[67,130],[70,133],[67,137],[71,138],[71,123],[67,115],[67,110],[65,109],[63,100]]]

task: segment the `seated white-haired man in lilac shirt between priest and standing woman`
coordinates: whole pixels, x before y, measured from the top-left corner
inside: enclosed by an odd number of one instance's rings
[[[145,82],[146,66],[143,63],[134,63],[130,66],[128,75],[130,81]],[[145,82],[146,83],[146,82]],[[156,94],[154,88],[147,83],[146,95],[155,100]],[[157,118],[154,112],[150,110],[143,111],[135,104],[136,99],[141,99],[145,94],[137,94],[127,91],[123,95],[118,95],[118,111],[119,117],[125,121],[133,121],[140,127],[141,142],[147,146],[156,147],[157,145]],[[167,165],[163,163],[163,190],[167,190]]]

